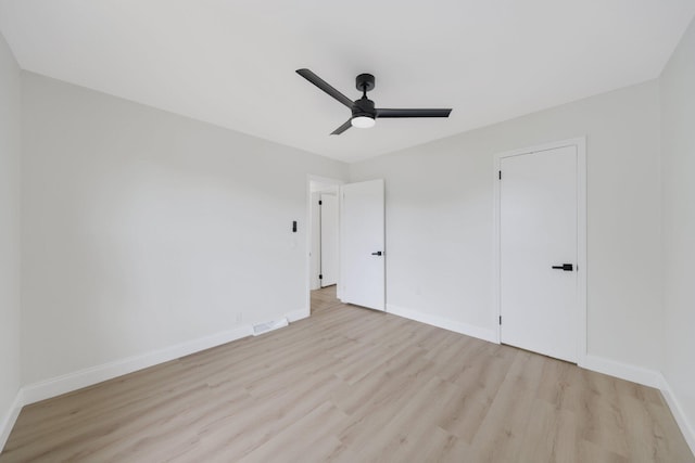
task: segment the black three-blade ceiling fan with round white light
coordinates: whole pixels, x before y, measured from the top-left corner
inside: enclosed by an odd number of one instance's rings
[[[452,112],[448,110],[410,110],[410,108],[384,108],[374,107],[374,101],[367,98],[367,92],[374,89],[374,76],[371,74],[361,74],[355,78],[355,87],[362,92],[359,100],[352,101],[326,80],[312,73],[309,69],[296,69],[296,74],[314,83],[319,89],[344,104],[352,112],[352,117],[345,124],[331,132],[331,136],[339,136],[350,127],[366,129],[374,127],[379,117],[448,117]]]

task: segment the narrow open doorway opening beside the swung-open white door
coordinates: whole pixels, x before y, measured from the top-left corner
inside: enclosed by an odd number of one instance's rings
[[[311,313],[337,304],[340,273],[338,180],[308,180],[308,303]]]

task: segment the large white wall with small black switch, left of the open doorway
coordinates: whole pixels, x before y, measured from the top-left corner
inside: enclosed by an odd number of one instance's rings
[[[24,384],[308,310],[307,175],[343,163],[23,83]]]

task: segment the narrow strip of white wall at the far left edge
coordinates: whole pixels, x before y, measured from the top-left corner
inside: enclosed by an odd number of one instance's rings
[[[0,35],[0,449],[20,390],[20,67]]]

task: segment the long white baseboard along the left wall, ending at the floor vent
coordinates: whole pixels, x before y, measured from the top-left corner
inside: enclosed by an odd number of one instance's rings
[[[29,404],[39,400],[50,399],[61,394],[71,393],[91,386],[106,380],[112,380],[124,374],[138,370],[168,362],[201,350],[232,340],[250,336],[252,329],[250,325],[239,326],[230,331],[217,333],[212,336],[189,340],[164,349],[154,350],[139,356],[128,357],[97,366],[67,373],[50,380],[29,384],[23,387],[24,403]]]

